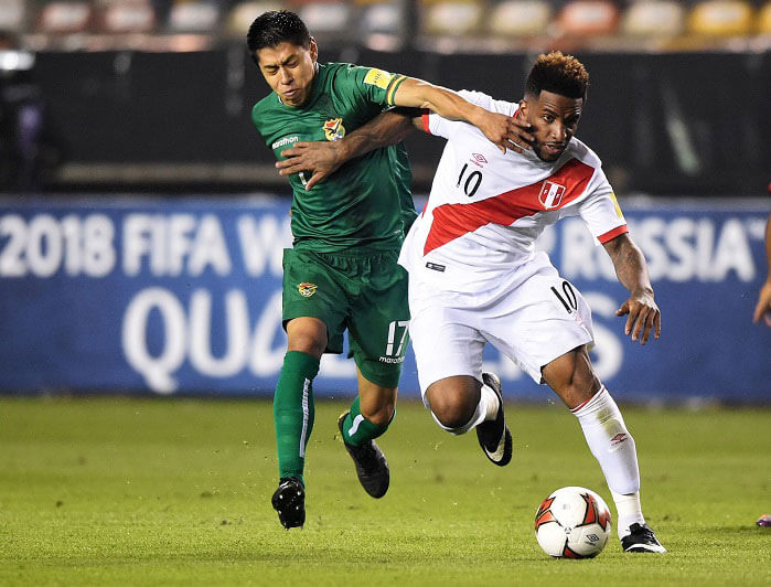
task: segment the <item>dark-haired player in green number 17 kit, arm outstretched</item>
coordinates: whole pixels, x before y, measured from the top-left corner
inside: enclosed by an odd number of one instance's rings
[[[347,63],[318,63],[300,18],[270,11],[251,24],[247,45],[272,92],[253,121],[276,158],[304,141],[335,141],[394,106],[429,108],[465,120],[505,151],[511,117],[404,75]],[[375,438],[386,431],[407,351],[407,275],[397,264],[415,218],[404,146],[343,164],[323,182],[290,175],[293,247],[283,252],[282,322],[288,346],[274,396],[279,485],[271,503],[286,529],[306,521],[306,447],[313,427],[313,377],[324,352],[343,351],[349,331],[358,396],[339,419],[366,492],[382,498],[389,471]]]

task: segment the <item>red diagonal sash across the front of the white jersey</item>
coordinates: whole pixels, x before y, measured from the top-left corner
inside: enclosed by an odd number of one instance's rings
[[[433,210],[433,222],[426,238],[424,255],[485,224],[507,226],[518,218],[544,212],[538,194],[545,181],[565,186],[565,194],[558,206],[561,207],[583,193],[593,173],[593,167],[578,159],[570,159],[556,173],[531,185],[516,188],[472,204],[437,206]]]

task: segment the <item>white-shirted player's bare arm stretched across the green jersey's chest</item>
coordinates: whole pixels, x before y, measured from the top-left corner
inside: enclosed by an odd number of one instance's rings
[[[342,140],[296,142],[291,149],[281,151],[286,159],[276,162],[276,168],[281,175],[300,171],[312,173],[306,183],[308,191],[345,161],[404,140],[414,128],[413,117],[418,115],[407,108],[397,108],[376,116]]]

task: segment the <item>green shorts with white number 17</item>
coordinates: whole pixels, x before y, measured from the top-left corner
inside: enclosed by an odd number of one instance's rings
[[[407,271],[397,258],[398,250],[285,248],[285,328],[293,318],[318,318],[326,324],[328,353],[343,352],[347,329],[362,375],[381,387],[397,387],[409,343]]]

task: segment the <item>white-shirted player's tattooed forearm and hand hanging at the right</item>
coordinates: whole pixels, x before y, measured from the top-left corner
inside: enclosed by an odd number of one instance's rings
[[[615,310],[615,316],[627,316],[624,334],[631,334],[632,340],[640,340],[641,344],[647,342],[652,330],[654,338],[661,338],[661,311],[653,299],[642,250],[628,234],[608,241],[604,247],[613,260],[619,281],[630,291],[629,299]]]

